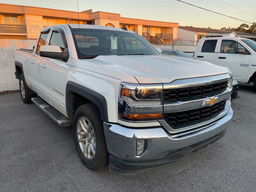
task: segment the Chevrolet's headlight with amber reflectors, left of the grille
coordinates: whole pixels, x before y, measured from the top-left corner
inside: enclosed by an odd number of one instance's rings
[[[162,84],[120,84],[118,116],[122,120],[162,119]]]

